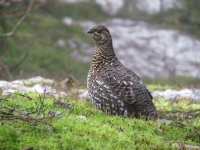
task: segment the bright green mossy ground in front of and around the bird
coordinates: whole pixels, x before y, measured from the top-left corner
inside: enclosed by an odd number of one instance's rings
[[[173,143],[200,143],[199,116],[192,119],[145,121],[106,115],[88,99],[75,96],[54,98],[51,95],[39,96],[37,93],[27,95],[18,93],[6,99],[2,97],[0,115],[7,112],[39,121],[1,119],[0,149],[176,149]],[[55,105],[60,100],[70,106]],[[189,100],[174,103],[157,98],[154,103],[159,111],[200,109],[199,103],[191,103]],[[4,107],[10,108],[10,111]],[[52,113],[58,115],[53,116]],[[39,119],[44,116],[46,119]]]

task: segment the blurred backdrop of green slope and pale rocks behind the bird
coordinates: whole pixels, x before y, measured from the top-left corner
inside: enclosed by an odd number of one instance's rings
[[[199,0],[0,0],[0,79],[86,82],[91,27],[146,83],[200,86]]]

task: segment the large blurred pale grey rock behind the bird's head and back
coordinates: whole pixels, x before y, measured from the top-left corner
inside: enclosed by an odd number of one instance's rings
[[[73,24],[82,26],[86,32],[96,23],[73,21]],[[180,31],[130,19],[115,18],[100,24],[106,25],[113,35],[120,61],[139,76],[200,78],[200,40]],[[78,44],[82,45],[79,48],[83,54],[76,53],[74,58],[91,62],[94,48],[81,41]]]

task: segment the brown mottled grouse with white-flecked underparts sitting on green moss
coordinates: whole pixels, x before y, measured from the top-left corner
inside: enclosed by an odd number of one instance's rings
[[[96,25],[87,33],[95,41],[87,76],[88,95],[94,106],[110,115],[156,118],[151,93],[142,80],[119,61],[109,30],[104,25]]]

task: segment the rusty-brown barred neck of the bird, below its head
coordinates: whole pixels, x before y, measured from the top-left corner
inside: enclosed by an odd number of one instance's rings
[[[112,42],[105,44],[96,44],[95,45],[95,53],[92,58],[91,67],[93,69],[100,69],[105,66],[113,65],[114,62],[118,62],[116,54],[114,52]]]

